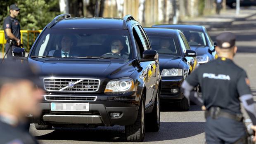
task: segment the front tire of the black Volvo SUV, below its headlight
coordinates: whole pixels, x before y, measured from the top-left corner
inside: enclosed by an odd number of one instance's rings
[[[133,125],[125,126],[127,142],[143,142],[145,137],[145,98],[142,95],[137,119]]]

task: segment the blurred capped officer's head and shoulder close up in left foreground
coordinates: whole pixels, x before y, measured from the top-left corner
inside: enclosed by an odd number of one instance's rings
[[[40,115],[43,83],[35,67],[0,64],[0,144],[37,144],[25,127],[26,115]]]

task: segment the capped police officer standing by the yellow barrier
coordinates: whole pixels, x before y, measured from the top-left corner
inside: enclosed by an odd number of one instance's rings
[[[19,15],[19,7],[13,4],[9,7],[10,15],[4,20],[4,31],[5,39],[7,40],[5,44],[5,52],[8,51],[7,57],[12,57],[12,49],[14,47],[20,47],[21,45],[21,34],[20,34],[20,25],[16,17]],[[10,50],[9,50],[10,49]]]

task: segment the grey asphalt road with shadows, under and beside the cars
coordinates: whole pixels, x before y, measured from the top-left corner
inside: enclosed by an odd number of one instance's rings
[[[228,28],[210,31],[210,35],[213,40],[223,31],[231,31],[237,35],[238,53],[235,63],[247,71],[256,96],[256,16],[246,21],[235,21],[232,26],[226,27]],[[145,142],[142,144],[203,144],[205,119],[204,112],[198,106],[192,105],[187,112],[176,111],[173,104],[166,104],[163,107],[159,132],[146,133]],[[123,130],[124,127],[114,126],[38,131],[31,125],[31,133],[42,144],[123,144],[126,143]]]

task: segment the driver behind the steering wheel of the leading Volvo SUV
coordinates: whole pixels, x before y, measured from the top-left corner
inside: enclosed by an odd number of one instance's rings
[[[127,54],[121,54],[121,50],[123,50],[123,42],[122,40],[112,40],[111,42],[111,52],[118,54],[119,56],[121,56],[123,59],[128,59],[129,55]]]

